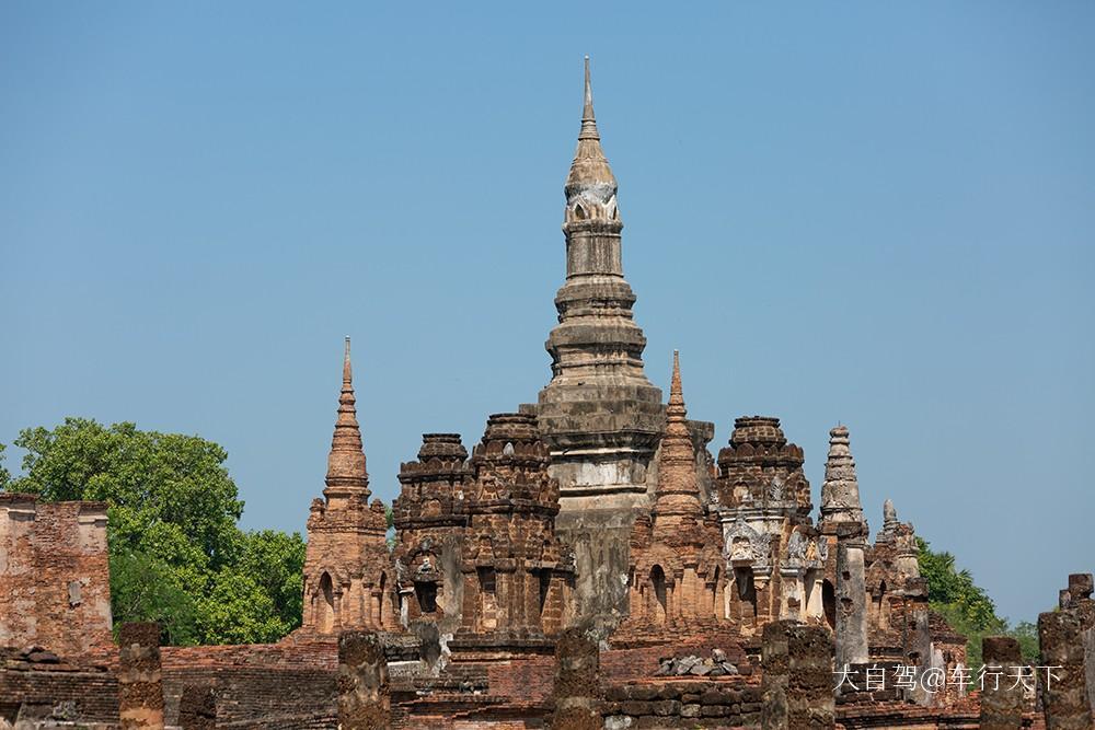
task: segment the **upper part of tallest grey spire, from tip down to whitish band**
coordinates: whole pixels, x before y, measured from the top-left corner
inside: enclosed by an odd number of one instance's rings
[[[623,278],[616,182],[601,150],[588,58],[581,129],[564,192],[566,282],[555,297],[558,325],[545,344],[552,380],[540,392],[540,428],[564,501],[576,487],[644,493],[662,429],[661,391],[643,371],[646,337]],[[599,468],[588,468],[591,456]]]

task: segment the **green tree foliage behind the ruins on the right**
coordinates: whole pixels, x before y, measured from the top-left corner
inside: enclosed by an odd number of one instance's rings
[[[943,614],[950,627],[966,637],[966,663],[981,665],[981,639],[986,636],[1007,635],[1019,641],[1023,658],[1038,658],[1038,630],[1029,622],[1008,626],[1007,619],[996,614],[996,605],[988,592],[973,582],[966,569],[958,569],[950,553],[936,553],[926,540],[917,538],[920,548],[920,575],[927,581],[927,600],[934,611]]]

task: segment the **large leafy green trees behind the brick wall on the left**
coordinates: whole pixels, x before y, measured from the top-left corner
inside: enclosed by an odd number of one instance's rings
[[[274,641],[300,625],[304,541],[240,530],[218,444],[67,418],[22,430],[15,445],[24,475],[0,474],[0,487],[108,503],[116,625],[158,621],[175,645]]]

